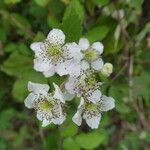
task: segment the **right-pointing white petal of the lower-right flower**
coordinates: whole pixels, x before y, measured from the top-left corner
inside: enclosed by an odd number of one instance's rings
[[[108,111],[115,107],[115,100],[112,97],[102,95],[101,97],[101,111]]]

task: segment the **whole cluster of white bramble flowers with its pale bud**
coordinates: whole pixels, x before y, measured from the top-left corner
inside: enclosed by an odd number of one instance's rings
[[[30,94],[25,99],[25,106],[37,112],[42,126],[50,123],[62,124],[66,119],[65,102],[75,96],[80,97],[80,104],[72,120],[78,126],[82,119],[91,128],[98,128],[101,114],[115,107],[112,97],[102,94],[102,82],[97,81],[96,73],[108,77],[113,70],[110,63],[104,63],[101,54],[104,46],[100,42],[90,45],[86,38],[79,43],[65,43],[65,35],[60,29],[49,32],[43,42],[31,44],[35,53],[34,69],[45,77],[55,74],[66,75],[64,88],[53,83],[55,91],[50,93],[47,84],[28,83]]]

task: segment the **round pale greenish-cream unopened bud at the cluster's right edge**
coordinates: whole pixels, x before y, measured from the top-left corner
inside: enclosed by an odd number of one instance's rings
[[[113,72],[113,65],[111,63],[105,63],[103,68],[101,69],[101,73],[104,76],[110,76],[112,72]]]

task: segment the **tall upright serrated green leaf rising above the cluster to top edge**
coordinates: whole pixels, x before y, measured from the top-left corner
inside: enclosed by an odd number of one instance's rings
[[[79,0],[72,0],[70,5],[67,7],[63,22],[60,28],[66,35],[66,41],[78,42],[82,33],[82,21],[84,18],[83,7]]]

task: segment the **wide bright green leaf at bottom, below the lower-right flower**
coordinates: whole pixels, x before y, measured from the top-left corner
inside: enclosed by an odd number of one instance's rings
[[[84,149],[95,149],[102,144],[107,138],[107,134],[98,132],[81,133],[76,136],[75,141]]]

